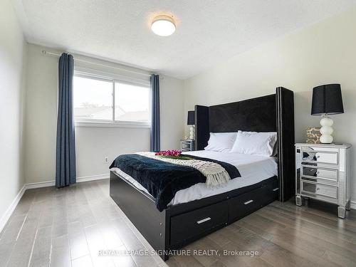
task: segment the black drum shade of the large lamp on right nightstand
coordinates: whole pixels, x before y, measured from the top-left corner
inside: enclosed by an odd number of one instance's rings
[[[340,84],[320,85],[313,88],[311,115],[333,115],[343,112]]]

